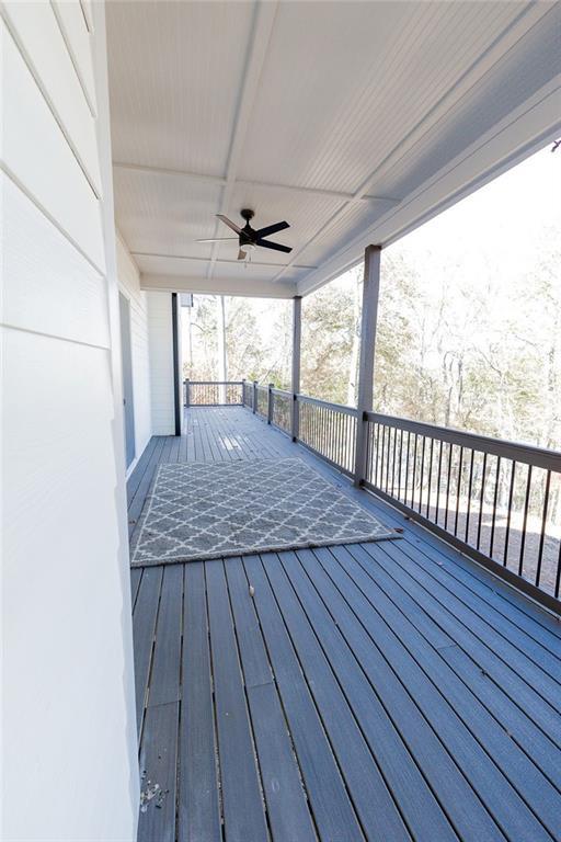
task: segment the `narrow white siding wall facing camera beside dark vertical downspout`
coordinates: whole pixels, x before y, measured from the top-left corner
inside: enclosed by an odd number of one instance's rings
[[[171,293],[148,292],[147,297],[152,432],[154,435],[174,435]]]

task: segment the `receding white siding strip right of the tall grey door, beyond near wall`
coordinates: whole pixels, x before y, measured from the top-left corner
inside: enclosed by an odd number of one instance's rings
[[[130,303],[130,345],[133,353],[133,391],[135,406],[135,453],[129,474],[142,455],[152,434],[150,401],[150,359],[148,345],[148,304],[140,289],[140,273],[127,247],[117,237],[117,273],[121,292]]]

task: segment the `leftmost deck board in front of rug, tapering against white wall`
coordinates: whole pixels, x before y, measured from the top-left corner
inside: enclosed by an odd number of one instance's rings
[[[152,567],[149,570],[144,570],[135,611],[133,613],[136,720],[138,733],[140,733],[142,727],[162,572],[163,570],[161,567]]]

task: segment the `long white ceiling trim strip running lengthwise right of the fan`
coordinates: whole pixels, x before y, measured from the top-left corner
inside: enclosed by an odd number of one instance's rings
[[[342,203],[328,221],[319,228],[308,242],[296,251],[288,263],[273,278],[273,283],[278,282],[285,272],[293,268],[296,260],[306,249],[319,237],[327,234],[341,217],[346,216],[364,195],[371,189],[375,179],[379,179],[390,167],[407,156],[419,143],[419,140],[428,132],[445,114],[450,111],[468,91],[499,61],[505,53],[524,37],[528,31],[548,12],[552,7],[546,3],[536,3],[525,7],[520,13],[512,21],[508,26],[494,39],[494,42],[482,53],[472,65],[461,72],[455,83],[443,94],[432,110],[412,127],[400,143],[380,161],[376,168],[363,181],[352,198]]]

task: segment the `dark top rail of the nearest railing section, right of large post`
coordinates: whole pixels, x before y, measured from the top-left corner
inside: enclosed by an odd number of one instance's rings
[[[438,426],[437,424],[428,424],[422,421],[413,421],[409,418],[385,416],[380,412],[366,412],[366,418],[368,421],[375,421],[386,426],[396,426],[430,439],[439,439],[443,442],[462,445],[481,453],[489,453],[493,456],[501,456],[502,458],[520,462],[525,465],[534,465],[546,470],[561,473],[561,453],[557,451],[549,451],[543,447],[535,447],[517,442],[507,442],[489,435],[479,435],[478,433]]]

